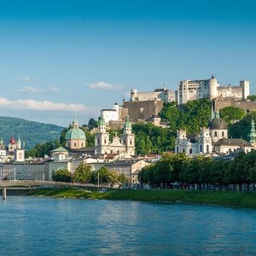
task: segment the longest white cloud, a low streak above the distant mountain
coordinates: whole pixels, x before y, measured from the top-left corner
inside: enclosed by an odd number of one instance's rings
[[[0,98],[0,107],[15,110],[35,111],[66,111],[66,112],[88,112],[89,108],[83,104],[55,103],[49,101],[35,101],[32,99],[11,101],[7,98]]]

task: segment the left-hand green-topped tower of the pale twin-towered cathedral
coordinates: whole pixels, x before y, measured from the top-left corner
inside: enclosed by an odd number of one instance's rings
[[[103,115],[99,118],[98,125],[95,136],[95,154],[106,154],[109,149],[109,133],[106,131],[106,122]]]

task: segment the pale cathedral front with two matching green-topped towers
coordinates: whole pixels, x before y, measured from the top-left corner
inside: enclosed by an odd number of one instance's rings
[[[113,141],[109,141],[109,133],[106,131],[106,122],[101,116],[99,118],[98,131],[95,137],[95,154],[119,154],[120,158],[131,158],[135,154],[135,135],[131,131],[131,121],[129,116],[126,117],[123,134],[121,137],[117,133]]]

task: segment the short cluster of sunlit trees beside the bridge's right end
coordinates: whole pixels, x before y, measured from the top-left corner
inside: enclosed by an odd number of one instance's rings
[[[92,172],[91,166],[81,162],[74,173],[68,172],[65,169],[60,169],[54,172],[52,179],[61,182],[76,182],[76,183],[97,183],[99,178],[100,183],[127,183],[125,174],[118,174],[110,171],[107,167],[102,166],[99,171]]]

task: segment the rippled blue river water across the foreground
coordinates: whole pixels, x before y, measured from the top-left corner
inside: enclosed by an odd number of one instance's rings
[[[8,196],[1,255],[256,255],[256,211]]]

